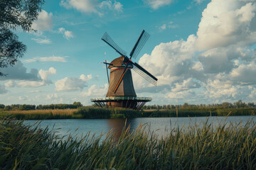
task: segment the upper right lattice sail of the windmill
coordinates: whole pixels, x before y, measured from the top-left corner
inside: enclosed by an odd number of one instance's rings
[[[142,50],[142,47],[145,45],[146,40],[148,40],[149,37],[150,37],[149,33],[146,33],[145,30],[142,30],[141,35],[139,35],[139,38],[138,38],[136,44],[132,48],[132,51],[130,53],[130,58],[132,58],[132,57],[134,59],[137,58],[137,56],[139,55],[139,52]]]

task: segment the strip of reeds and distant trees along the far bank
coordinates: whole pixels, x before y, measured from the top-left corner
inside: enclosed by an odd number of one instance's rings
[[[228,106],[228,107],[227,107]],[[151,108],[151,109],[149,109]],[[254,103],[238,101],[236,105],[189,105],[183,106],[145,106],[141,111],[124,108],[99,108],[82,106],[80,102],[73,104],[50,105],[11,105],[0,104],[0,114],[11,114],[18,119],[66,119],[66,118],[159,118],[159,117],[195,117],[225,115],[255,115]]]

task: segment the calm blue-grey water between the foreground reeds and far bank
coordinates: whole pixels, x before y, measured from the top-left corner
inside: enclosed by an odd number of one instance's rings
[[[57,130],[57,135],[81,136],[87,132],[90,134],[100,135],[106,134],[110,130],[114,132],[115,137],[119,137],[124,125],[131,126],[131,130],[136,130],[139,125],[146,125],[147,129],[154,131],[156,135],[166,136],[174,128],[188,127],[189,125],[198,125],[199,127],[208,120],[213,127],[219,124],[230,123],[245,125],[248,120],[256,122],[256,115],[250,116],[214,116],[214,117],[197,117],[197,118],[133,118],[133,119],[57,119],[42,120],[41,128]],[[36,120],[25,120],[24,123],[33,125]],[[105,136],[105,135],[103,135]]]

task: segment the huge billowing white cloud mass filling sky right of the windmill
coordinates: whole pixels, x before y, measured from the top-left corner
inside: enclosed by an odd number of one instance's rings
[[[255,97],[255,13],[252,1],[212,0],[202,13],[197,35],[161,43],[141,57],[139,64],[159,79],[159,85],[133,74],[135,89],[178,102]]]

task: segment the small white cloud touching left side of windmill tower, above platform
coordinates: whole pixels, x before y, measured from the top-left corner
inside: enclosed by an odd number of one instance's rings
[[[94,84],[90,86],[88,91],[82,93],[82,96],[91,96],[91,97],[103,96],[107,94],[107,89],[108,89],[108,84],[105,84],[104,86],[97,86]]]

